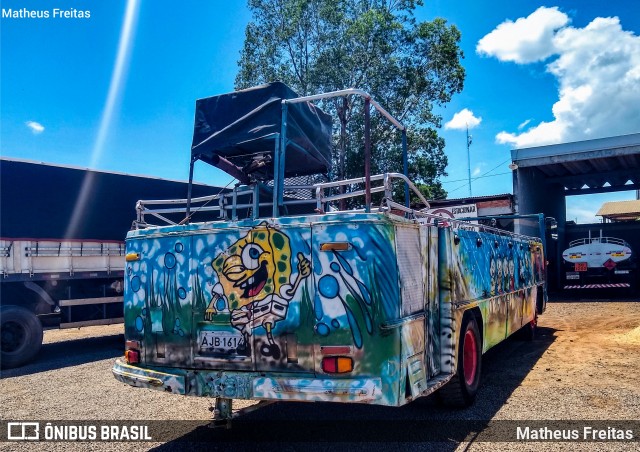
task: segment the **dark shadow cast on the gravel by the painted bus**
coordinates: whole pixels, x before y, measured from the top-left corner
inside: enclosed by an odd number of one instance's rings
[[[455,450],[472,442],[488,420],[555,340],[556,330],[539,328],[533,342],[509,339],[483,358],[482,384],[473,406],[441,407],[434,395],[401,408],[360,404],[279,402],[234,420],[230,429],[199,426],[156,451],[228,448],[256,450],[276,446],[289,450],[349,449]]]

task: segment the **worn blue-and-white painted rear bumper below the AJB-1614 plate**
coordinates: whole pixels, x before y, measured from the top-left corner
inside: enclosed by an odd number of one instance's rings
[[[247,400],[295,400],[386,405],[380,378],[265,377],[255,372],[143,368],[117,359],[113,375],[131,386],[174,394]]]

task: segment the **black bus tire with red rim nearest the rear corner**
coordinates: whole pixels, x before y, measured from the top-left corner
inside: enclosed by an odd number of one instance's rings
[[[456,373],[436,394],[443,405],[464,408],[475,400],[482,370],[482,338],[471,313],[462,319],[458,340]]]

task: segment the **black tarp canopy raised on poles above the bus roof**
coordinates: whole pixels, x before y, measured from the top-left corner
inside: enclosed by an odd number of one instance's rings
[[[275,82],[197,100],[192,157],[234,176],[235,168],[230,171],[226,161],[252,178],[272,179],[275,138],[282,127],[281,101],[296,97],[284,83]],[[309,102],[291,104],[286,136],[285,177],[331,169],[329,115]],[[225,165],[219,164],[220,158]]]

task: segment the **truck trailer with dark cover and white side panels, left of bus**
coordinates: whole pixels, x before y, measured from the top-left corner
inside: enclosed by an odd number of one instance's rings
[[[188,184],[9,158],[0,170],[0,364],[9,368],[38,353],[43,329],[123,321],[131,206],[186,197]]]

